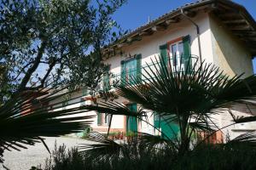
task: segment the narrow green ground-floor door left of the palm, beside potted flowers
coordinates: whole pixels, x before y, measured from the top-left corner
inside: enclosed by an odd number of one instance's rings
[[[131,111],[137,111],[137,104],[129,104]],[[137,117],[126,116],[126,133],[137,132]]]

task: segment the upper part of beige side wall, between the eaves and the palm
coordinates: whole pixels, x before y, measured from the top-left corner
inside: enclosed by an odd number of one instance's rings
[[[214,64],[230,76],[241,73],[245,73],[244,77],[253,75],[252,54],[244,43],[213,15],[210,15],[209,21]]]

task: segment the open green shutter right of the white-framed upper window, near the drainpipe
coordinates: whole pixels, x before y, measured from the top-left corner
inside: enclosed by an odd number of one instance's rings
[[[183,37],[183,59],[184,59],[184,69],[190,70],[191,68],[191,60],[190,59],[190,36]]]

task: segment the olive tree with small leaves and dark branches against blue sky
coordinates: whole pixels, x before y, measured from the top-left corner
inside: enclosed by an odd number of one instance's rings
[[[101,48],[119,37],[111,17],[124,2],[1,1],[0,64],[8,77],[1,81],[2,94],[43,88],[49,82],[96,88],[105,69]]]

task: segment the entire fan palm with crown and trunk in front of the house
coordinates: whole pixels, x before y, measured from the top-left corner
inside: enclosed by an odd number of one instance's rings
[[[153,63],[153,59],[151,60]],[[163,59],[154,60],[157,61],[154,65],[143,68],[143,78],[133,77],[131,82],[120,82],[115,87],[121,97],[140,105],[138,111],[131,111],[115,101],[101,102],[97,106],[90,105],[87,110],[100,111],[111,116],[133,116],[143,122],[147,122],[147,119],[143,118],[147,116],[146,110],[152,111],[154,116],[159,116],[167,124],[176,123],[178,126],[179,134],[176,139],[168,139],[165,132],[161,133],[166,137],[163,140],[168,140],[168,144],[181,156],[190,150],[193,134],[204,131],[211,136],[222,130],[212,120],[212,115],[229,111],[234,123],[256,121],[256,116],[236,117],[230,111],[233,105],[256,99],[254,75],[246,78],[242,78],[242,75],[229,77],[217,66],[206,62],[196,61],[192,65],[191,59],[184,69],[172,67],[170,59],[168,64],[163,62]],[[154,128],[160,131],[159,127]],[[246,136],[255,138],[253,133]],[[242,137],[236,140],[251,141]],[[86,150],[84,152],[86,153]]]

